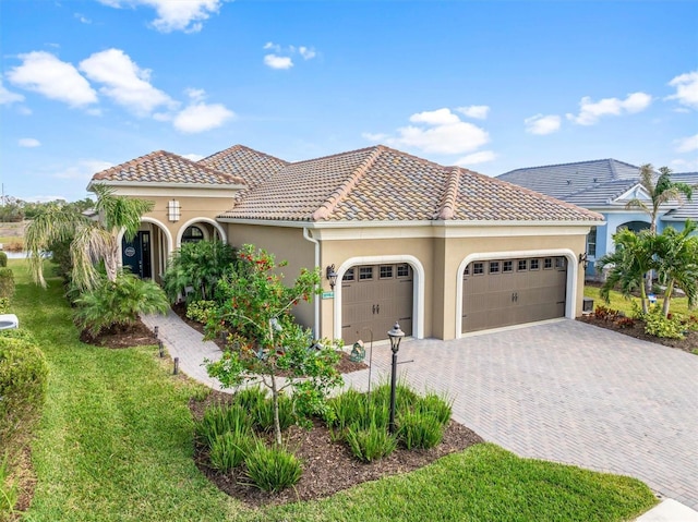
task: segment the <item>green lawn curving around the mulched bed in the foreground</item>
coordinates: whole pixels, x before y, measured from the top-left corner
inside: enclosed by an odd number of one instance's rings
[[[186,404],[201,388],[172,377],[155,347],[81,343],[59,282],[45,291],[28,283],[24,260],[10,266],[13,313],[50,365],[28,521],[624,521],[655,502],[639,481],[488,444],[324,500],[246,509],[192,462]]]

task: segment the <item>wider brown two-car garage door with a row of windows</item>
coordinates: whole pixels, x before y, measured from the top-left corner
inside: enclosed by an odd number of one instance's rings
[[[472,262],[462,277],[462,332],[565,316],[567,259]]]

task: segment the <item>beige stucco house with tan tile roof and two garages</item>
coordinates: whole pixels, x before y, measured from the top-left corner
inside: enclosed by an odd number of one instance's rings
[[[123,264],[159,279],[184,241],[254,243],[321,267],[301,323],[345,343],[416,338],[581,314],[579,268],[597,213],[385,146],[287,162],[234,146],[198,162],[157,151],[95,174],[155,202]],[[332,287],[329,272],[337,275]]]

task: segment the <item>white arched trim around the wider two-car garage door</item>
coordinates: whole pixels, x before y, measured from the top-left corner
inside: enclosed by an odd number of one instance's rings
[[[510,259],[517,257],[553,257],[565,256],[567,258],[567,293],[565,300],[565,317],[574,319],[577,316],[577,276],[579,274],[579,265],[577,256],[569,248],[555,250],[533,250],[533,251],[512,251],[512,252],[478,252],[470,254],[458,265],[458,274],[456,275],[456,339],[464,337],[462,330],[462,276],[466,267],[476,260],[489,259]]]

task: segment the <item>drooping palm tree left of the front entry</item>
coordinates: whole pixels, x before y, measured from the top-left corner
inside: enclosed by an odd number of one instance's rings
[[[107,279],[117,280],[119,271],[118,234],[124,231],[132,240],[141,227],[141,217],[151,211],[153,202],[113,195],[113,189],[94,185],[97,202],[94,220],[70,206],[51,206],[38,214],[26,229],[29,270],[35,282],[46,287],[43,254],[52,243],[70,240],[73,283],[81,290],[92,290],[99,282],[96,265],[104,262]]]

